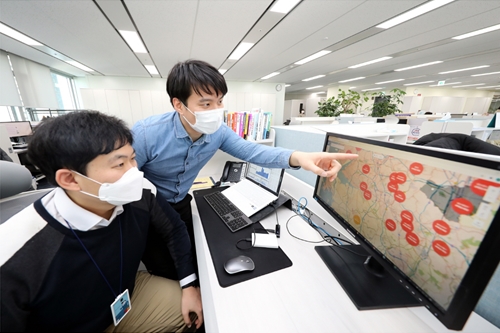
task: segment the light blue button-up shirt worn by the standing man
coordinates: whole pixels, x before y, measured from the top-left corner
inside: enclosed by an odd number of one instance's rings
[[[244,140],[225,124],[193,142],[179,117],[175,111],[155,115],[132,128],[137,167],[171,203],[184,199],[218,149],[263,167],[290,168],[292,150]]]

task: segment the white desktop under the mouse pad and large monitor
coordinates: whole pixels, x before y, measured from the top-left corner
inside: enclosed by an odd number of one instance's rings
[[[286,174],[283,189],[294,197],[295,193],[302,192],[301,195],[309,202],[308,206],[315,212],[309,185]],[[192,209],[208,333],[455,332],[447,330],[424,307],[358,311],[314,250],[314,246],[319,244],[306,243],[290,236],[286,222],[294,213],[283,207],[277,210],[281,224],[279,245],[293,265],[222,288],[194,200]],[[268,216],[261,223],[265,228],[274,228],[276,215]],[[288,226],[298,237],[320,240],[316,231],[299,217],[292,218]],[[500,329],[472,313],[463,331],[500,332]]]

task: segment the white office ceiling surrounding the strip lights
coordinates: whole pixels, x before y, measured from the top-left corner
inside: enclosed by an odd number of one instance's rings
[[[205,60],[231,81],[290,84],[286,92],[312,93],[338,86],[354,90],[438,81],[500,91],[500,30],[471,38],[452,37],[500,24],[500,1],[457,0],[389,29],[376,28],[423,0],[303,0],[288,14],[270,13],[272,0],[0,0],[0,22],[43,43],[28,46],[0,34],[0,49],[75,76],[163,77],[178,61]],[[139,32],[148,54],[134,53],[118,30]],[[242,41],[255,45],[241,59],[229,55]],[[294,63],[321,50],[331,53]],[[385,56],[392,59],[349,69]],[[71,58],[94,72],[61,59]],[[442,63],[394,71],[423,63]],[[159,75],[143,66],[155,65]],[[449,74],[440,72],[488,65]],[[309,82],[303,79],[322,78]],[[404,79],[404,81],[376,84]],[[480,85],[481,84],[481,85]],[[308,87],[323,86],[306,90]],[[445,87],[450,87],[445,86]],[[495,87],[496,86],[496,87]]]

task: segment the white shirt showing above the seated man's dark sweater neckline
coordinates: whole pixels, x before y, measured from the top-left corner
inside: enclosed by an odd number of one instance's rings
[[[58,187],[42,198],[42,204],[59,223],[66,228],[68,223],[75,230],[89,231],[107,227],[118,215],[123,213],[123,206],[116,206],[109,220],[78,206],[66,192]]]

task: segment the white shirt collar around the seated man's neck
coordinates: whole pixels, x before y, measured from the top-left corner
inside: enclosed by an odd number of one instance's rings
[[[111,214],[111,217],[107,220],[78,206],[60,187],[55,190],[54,205],[57,212],[64,220],[69,222],[74,229],[81,231],[107,227],[116,216],[123,212],[123,206],[116,206],[113,210],[113,214]]]

